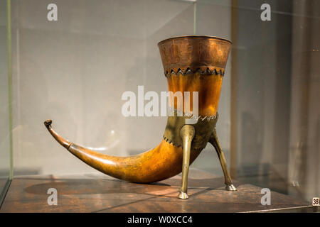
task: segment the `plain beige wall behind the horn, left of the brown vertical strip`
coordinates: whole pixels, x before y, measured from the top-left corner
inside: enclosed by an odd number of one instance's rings
[[[47,21],[53,1],[13,1],[15,175],[95,172],[48,134],[101,153],[132,155],[157,145],[166,118],[125,118],[125,91],[166,91],[157,43],[192,35],[194,5],[187,1],[54,1],[58,21]],[[197,34],[230,38],[230,7],[197,4]],[[228,157],[230,61],[220,99],[218,131]],[[195,167],[220,164],[208,145]]]

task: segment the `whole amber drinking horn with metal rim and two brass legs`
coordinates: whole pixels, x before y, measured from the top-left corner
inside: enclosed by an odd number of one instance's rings
[[[178,194],[180,199],[188,198],[189,165],[209,142],[218,153],[225,177],[225,189],[235,191],[215,130],[220,90],[231,42],[213,36],[192,35],[169,38],[158,43],[158,46],[169,93],[181,92],[184,106],[190,107],[183,109],[181,113],[177,97],[169,99],[169,109],[173,109],[174,114],[168,116],[164,138],[156,148],[140,155],[114,157],[70,143],[53,131],[51,120],[44,122],[46,128],[70,153],[96,170],[118,179],[149,183],[182,172]],[[193,92],[197,92],[198,100],[190,99]],[[197,114],[194,101],[198,104],[195,105],[198,107]],[[188,120],[194,121],[190,123]]]

